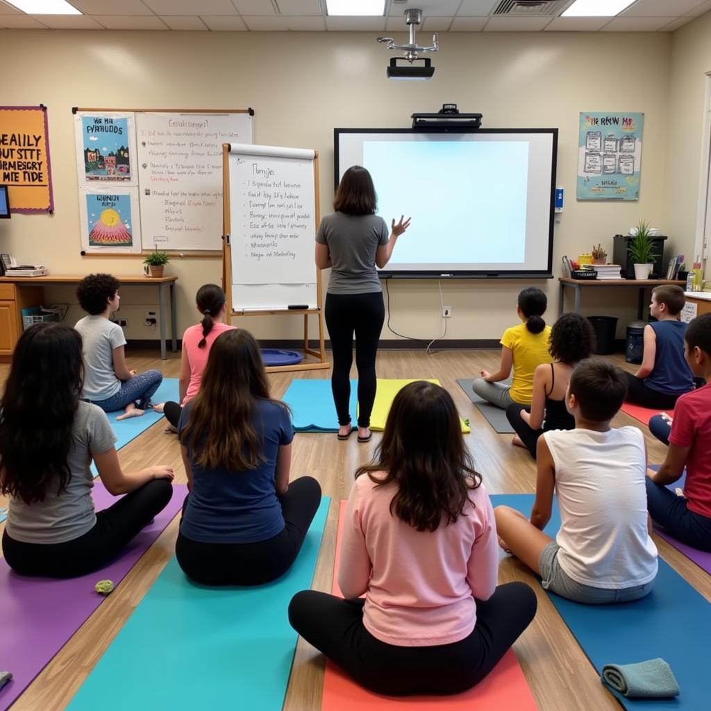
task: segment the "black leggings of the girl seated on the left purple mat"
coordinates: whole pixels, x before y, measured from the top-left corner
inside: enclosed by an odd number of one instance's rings
[[[2,537],[5,560],[21,575],[80,577],[114,560],[166,508],[171,496],[173,486],[168,479],[153,479],[113,506],[97,511],[94,528],[64,543],[25,543],[10,538],[5,531]]]

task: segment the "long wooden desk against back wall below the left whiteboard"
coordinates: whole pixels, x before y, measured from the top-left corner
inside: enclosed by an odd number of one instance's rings
[[[82,276],[0,277],[0,355],[11,355],[22,332],[22,309],[38,306],[43,301],[42,287],[46,284],[79,284]],[[116,275],[121,287],[137,286],[158,288],[158,324],[161,334],[161,358],[166,359],[166,288],[171,302],[171,340],[173,351],[178,349],[176,331],[175,284],[178,277],[121,277]],[[14,302],[14,304],[12,303]],[[32,303],[31,303],[32,302]]]

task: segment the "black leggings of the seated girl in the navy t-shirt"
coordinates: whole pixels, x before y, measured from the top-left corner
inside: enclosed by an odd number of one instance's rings
[[[299,555],[321,503],[321,486],[301,476],[279,501],[286,523],[282,533],[257,543],[205,543],[178,533],[178,565],[201,585],[262,585],[282,577]]]

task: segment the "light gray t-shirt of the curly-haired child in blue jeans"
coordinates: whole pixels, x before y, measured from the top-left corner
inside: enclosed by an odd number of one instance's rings
[[[121,389],[121,381],[114,373],[114,348],[126,345],[124,332],[105,316],[85,316],[74,328],[84,342],[82,397],[92,402],[108,400]]]

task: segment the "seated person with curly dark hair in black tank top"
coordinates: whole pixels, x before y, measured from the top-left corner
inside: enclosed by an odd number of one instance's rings
[[[539,365],[533,373],[533,400],[528,408],[513,404],[506,417],[515,430],[513,444],[526,447],[535,459],[538,437],[550,429],[573,429],[575,419],[565,407],[573,368],[589,358],[595,333],[590,322],[580,314],[563,314],[550,331],[548,352],[554,363]]]

